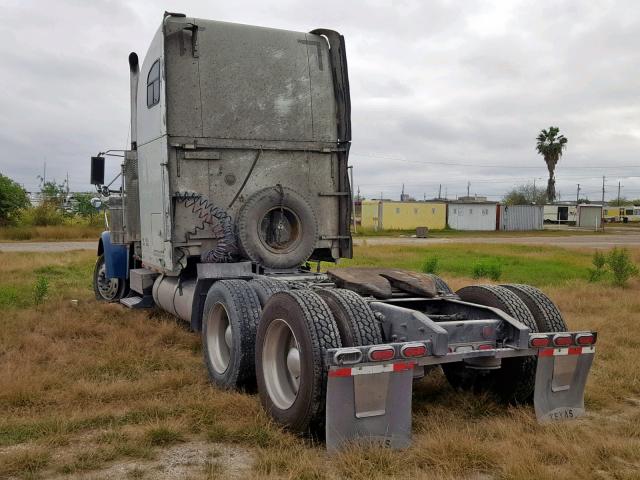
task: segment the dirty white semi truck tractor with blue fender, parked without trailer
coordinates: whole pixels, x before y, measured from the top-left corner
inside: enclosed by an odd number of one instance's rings
[[[329,449],[407,446],[412,387],[433,368],[532,402],[540,422],[583,415],[596,333],[569,331],[537,288],[320,268],[352,257],[342,35],[165,13],[129,71],[131,145],[91,158],[108,218],[98,300],[184,320],[215,385],[257,389]]]

